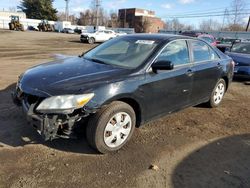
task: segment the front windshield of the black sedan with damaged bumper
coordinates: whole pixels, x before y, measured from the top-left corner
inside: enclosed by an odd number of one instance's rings
[[[157,44],[155,40],[116,38],[90,50],[83,57],[109,65],[136,68],[151,55]]]

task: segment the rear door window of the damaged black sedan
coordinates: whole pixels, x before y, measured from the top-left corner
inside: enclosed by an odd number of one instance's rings
[[[192,41],[191,47],[193,51],[194,62],[211,60],[210,51],[206,43],[202,41]]]

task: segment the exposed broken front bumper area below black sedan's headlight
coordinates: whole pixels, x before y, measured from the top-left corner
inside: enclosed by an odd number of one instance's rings
[[[28,97],[30,96],[20,94],[18,90],[12,93],[13,102],[22,107],[28,123],[36,128],[44,140],[53,140],[58,137],[75,138],[77,122],[89,115],[80,109],[72,114],[41,114],[35,110],[38,102],[30,103]]]

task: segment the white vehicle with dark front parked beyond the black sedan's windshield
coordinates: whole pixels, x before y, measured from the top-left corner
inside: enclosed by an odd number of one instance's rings
[[[117,34],[112,30],[98,30],[93,33],[82,33],[80,41],[93,44],[95,42],[105,42],[115,37],[117,37]]]

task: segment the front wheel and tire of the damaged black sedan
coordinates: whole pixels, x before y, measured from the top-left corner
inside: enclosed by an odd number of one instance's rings
[[[87,141],[100,153],[117,151],[131,138],[135,123],[136,116],[131,106],[120,101],[112,102],[90,117]]]

